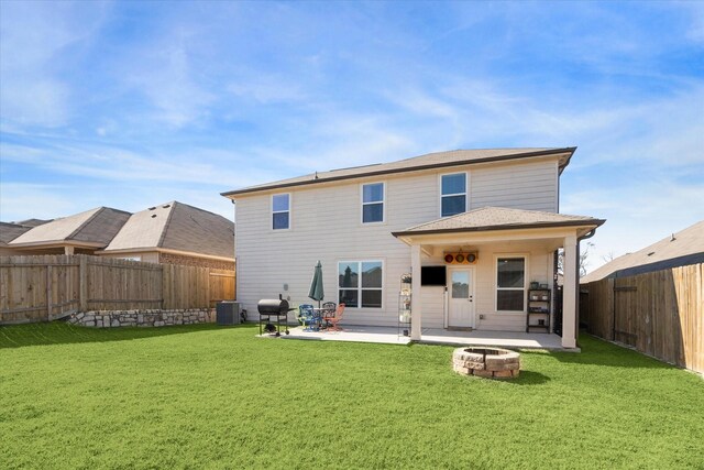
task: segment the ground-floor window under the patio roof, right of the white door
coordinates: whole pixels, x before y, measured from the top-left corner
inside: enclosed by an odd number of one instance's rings
[[[526,310],[526,255],[496,256],[496,311]]]

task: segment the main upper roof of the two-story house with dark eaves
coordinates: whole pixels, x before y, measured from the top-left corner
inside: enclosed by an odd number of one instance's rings
[[[377,176],[393,173],[414,172],[420,170],[441,168],[476,163],[499,162],[507,160],[528,159],[544,155],[560,155],[560,172],[570,163],[570,159],[576,147],[547,149],[481,149],[481,150],[453,150],[449,152],[429,153],[411,159],[391,163],[377,163],[374,165],[355,166],[351,168],[332,170],[329,172],[316,172],[314,174],[282,179],[256,186],[249,186],[228,193],[222,196],[235,196],[248,193],[256,193],[267,189],[278,189],[292,186],[320,184],[340,179],[351,179],[365,176]]]

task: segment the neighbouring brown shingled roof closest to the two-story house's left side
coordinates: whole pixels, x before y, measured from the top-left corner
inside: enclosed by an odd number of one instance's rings
[[[217,214],[172,201],[133,214],[103,252],[174,250],[234,258],[234,223]]]

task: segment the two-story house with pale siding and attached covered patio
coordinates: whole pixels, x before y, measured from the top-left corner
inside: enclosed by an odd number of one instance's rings
[[[559,214],[574,151],[458,150],[223,193],[235,203],[238,299],[250,311],[278,294],[309,303],[320,260],[326,299],[346,304],[348,324],[396,326],[411,274],[411,339],[525,331],[529,288],[553,289],[563,248],[562,346],[574,348],[579,240],[604,222]]]

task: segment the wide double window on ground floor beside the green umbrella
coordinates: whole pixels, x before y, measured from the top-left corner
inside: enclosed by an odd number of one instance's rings
[[[346,308],[382,308],[383,261],[340,261],[338,302]]]

